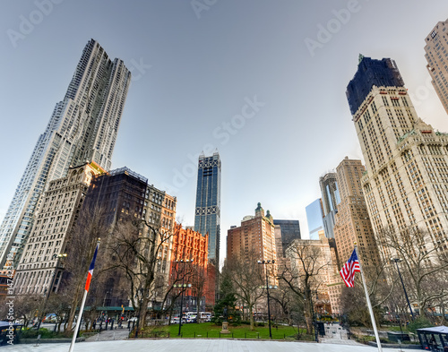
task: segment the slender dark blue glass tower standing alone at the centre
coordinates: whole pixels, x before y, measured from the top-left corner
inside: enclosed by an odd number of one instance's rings
[[[218,152],[199,156],[194,231],[209,234],[209,260],[220,265],[221,161]]]

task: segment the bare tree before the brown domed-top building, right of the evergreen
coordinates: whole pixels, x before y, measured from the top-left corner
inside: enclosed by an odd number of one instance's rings
[[[250,329],[254,330],[254,306],[263,296],[263,267],[258,265],[254,252],[245,259],[234,259],[228,263],[235,295],[244,302],[249,311]]]

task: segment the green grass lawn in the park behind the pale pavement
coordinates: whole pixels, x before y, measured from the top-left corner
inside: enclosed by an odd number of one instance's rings
[[[196,339],[269,339],[269,327],[268,324],[265,326],[256,326],[255,331],[250,330],[248,325],[240,326],[228,326],[228,334],[221,334],[221,326],[215,325],[211,322],[203,322],[200,324],[188,323],[182,324],[181,337],[182,338],[196,338]],[[297,329],[291,326],[271,327],[272,339],[296,339]],[[142,331],[140,337],[168,337],[178,338],[179,324],[173,324],[170,326],[163,327],[148,327],[145,331]],[[302,332],[303,333],[303,332]],[[301,339],[306,339],[303,335]]]

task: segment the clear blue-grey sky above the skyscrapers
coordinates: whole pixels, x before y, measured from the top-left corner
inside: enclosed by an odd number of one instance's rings
[[[319,177],[362,159],[345,96],[358,56],[392,57],[420,116],[448,131],[425,38],[444,0],[4,0],[0,12],[0,219],[82,49],[96,39],[133,73],[112,159],[177,196],[194,225],[197,157],[222,162],[227,230],[254,215],[298,219]]]

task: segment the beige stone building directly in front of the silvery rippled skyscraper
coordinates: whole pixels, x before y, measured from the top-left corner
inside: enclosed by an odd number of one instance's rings
[[[90,181],[104,170],[94,162],[70,167],[67,176],[49,182],[20,262],[15,263],[14,292],[43,294],[56,292],[64,273],[67,244]],[[55,278],[53,279],[53,275]],[[50,285],[53,287],[50,288]]]

